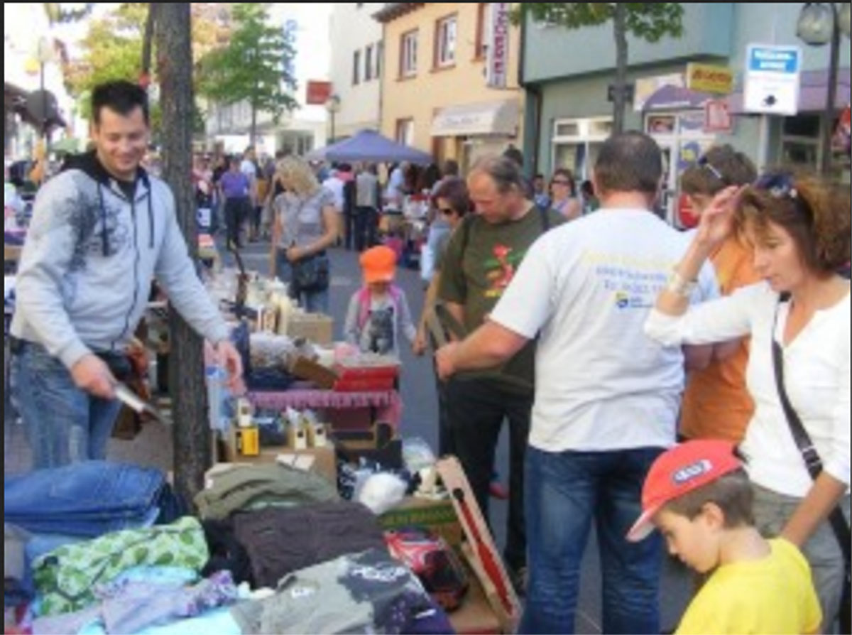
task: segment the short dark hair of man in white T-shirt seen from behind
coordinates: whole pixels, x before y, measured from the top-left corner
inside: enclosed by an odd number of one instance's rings
[[[631,130],[603,142],[595,164],[596,186],[603,194],[653,194],[662,176],[663,155],[650,136]]]

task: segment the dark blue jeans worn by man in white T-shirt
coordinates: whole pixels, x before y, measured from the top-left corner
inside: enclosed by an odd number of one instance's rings
[[[662,540],[630,543],[642,482],[662,452],[543,452],[527,448],[527,608],[519,632],[572,633],[580,563],[594,519],[603,579],[603,632],[659,633]]]

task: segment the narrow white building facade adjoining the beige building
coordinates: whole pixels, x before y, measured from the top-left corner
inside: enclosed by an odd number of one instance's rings
[[[334,137],[379,130],[384,43],[373,14],[384,3],[335,3],[331,9],[331,93],[337,97]],[[331,122],[330,122],[331,123]],[[331,128],[329,128],[331,136]]]

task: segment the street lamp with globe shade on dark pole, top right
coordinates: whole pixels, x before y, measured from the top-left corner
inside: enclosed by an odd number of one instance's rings
[[[806,3],[799,14],[796,35],[810,46],[825,46],[831,43],[828,63],[828,87],[826,107],[822,111],[822,151],[820,171],[827,174],[832,164],[832,126],[834,124],[834,101],[838,94],[838,60],[840,57],[840,32],[849,36],[849,4]]]

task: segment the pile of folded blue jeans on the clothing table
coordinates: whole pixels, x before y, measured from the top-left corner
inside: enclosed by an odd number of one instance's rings
[[[7,476],[3,499],[5,522],[83,538],[170,522],[181,512],[161,471],[108,461]]]

